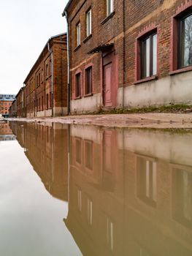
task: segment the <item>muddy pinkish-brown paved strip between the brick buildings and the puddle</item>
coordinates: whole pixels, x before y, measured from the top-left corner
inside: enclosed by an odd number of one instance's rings
[[[104,127],[192,128],[192,113],[136,113],[117,115],[62,116],[57,118],[7,118],[9,121],[93,124]]]

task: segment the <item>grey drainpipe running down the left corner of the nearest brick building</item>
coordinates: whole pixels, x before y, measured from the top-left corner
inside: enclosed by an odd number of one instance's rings
[[[64,16],[66,17],[67,23],[67,35],[66,35],[66,44],[67,44],[67,114],[70,115],[71,112],[71,85],[70,85],[70,55],[69,55],[69,34],[70,34],[70,26],[67,12],[64,11]]]

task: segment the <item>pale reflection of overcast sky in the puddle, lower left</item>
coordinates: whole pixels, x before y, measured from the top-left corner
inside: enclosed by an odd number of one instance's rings
[[[46,191],[18,142],[1,142],[0,162],[1,255],[81,255],[63,222],[67,203]]]

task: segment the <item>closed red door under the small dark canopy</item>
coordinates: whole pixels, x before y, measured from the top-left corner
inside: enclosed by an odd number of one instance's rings
[[[112,63],[104,66],[104,107],[112,106]]]

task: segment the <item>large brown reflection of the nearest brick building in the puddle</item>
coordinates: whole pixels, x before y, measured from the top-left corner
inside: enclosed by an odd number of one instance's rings
[[[71,127],[65,223],[83,255],[192,255],[191,142]]]

